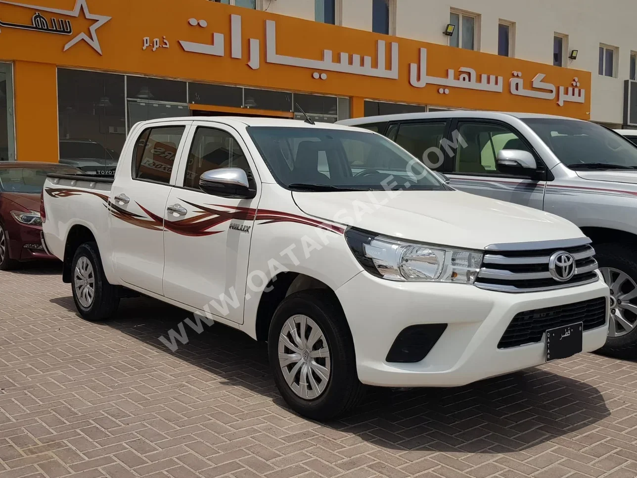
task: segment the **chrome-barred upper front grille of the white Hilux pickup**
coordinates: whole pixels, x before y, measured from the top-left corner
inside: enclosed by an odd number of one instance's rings
[[[557,252],[567,252],[575,260],[575,273],[569,280],[557,280],[550,272],[550,258]],[[485,250],[475,286],[522,293],[590,284],[599,280],[594,254],[588,238],[490,245]]]

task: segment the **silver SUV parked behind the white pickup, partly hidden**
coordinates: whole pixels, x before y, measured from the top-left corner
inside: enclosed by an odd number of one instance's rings
[[[532,206],[589,236],[611,289],[606,351],[637,352],[637,147],[587,121],[448,111],[343,120],[396,141],[461,191]],[[513,271],[512,271],[513,272]]]

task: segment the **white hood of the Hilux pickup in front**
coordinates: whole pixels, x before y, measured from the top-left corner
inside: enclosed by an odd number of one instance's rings
[[[293,192],[306,214],[382,235],[484,249],[494,243],[583,237],[575,224],[540,210],[461,191]],[[378,208],[378,204],[383,204]]]

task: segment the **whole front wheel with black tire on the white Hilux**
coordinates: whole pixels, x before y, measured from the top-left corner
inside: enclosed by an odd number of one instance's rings
[[[268,335],[276,386],[295,412],[316,420],[346,414],[364,395],[343,310],[327,291],[290,294]]]

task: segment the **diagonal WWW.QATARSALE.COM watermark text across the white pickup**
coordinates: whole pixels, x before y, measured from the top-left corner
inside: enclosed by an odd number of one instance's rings
[[[413,161],[408,163],[406,172],[410,179],[419,180],[424,175],[431,174],[430,171],[423,170],[422,173],[416,174],[413,171],[416,163],[424,163],[428,168],[436,169],[442,165],[445,161],[445,152],[450,157],[455,155],[455,150],[462,146],[467,146],[466,141],[462,138],[458,131],[452,133],[452,140],[443,138],[440,141],[440,148],[431,147],[427,148],[422,155],[422,161],[414,158]],[[443,152],[443,149],[445,152]],[[422,170],[422,168],[420,168]],[[340,237],[334,233],[333,225],[336,224],[348,224],[354,226],[362,221],[365,215],[373,214],[376,210],[379,210],[383,206],[387,205],[392,199],[399,196],[403,191],[410,187],[410,184],[404,185],[398,184],[394,178],[394,175],[388,175],[383,181],[380,182],[383,189],[382,192],[385,197],[378,198],[378,195],[373,194],[371,191],[366,191],[367,201],[361,201],[354,199],[350,204],[350,208],[343,208],[336,212],[333,217],[333,222],[324,222],[319,227],[312,228],[312,236],[304,235],[303,237],[295,240],[285,249],[281,250],[278,257],[271,257],[267,263],[267,272],[262,270],[254,270],[248,274],[246,282],[246,293],[244,294],[245,300],[258,297],[262,293],[268,293],[274,289],[271,282],[276,280],[276,277],[283,272],[290,272],[289,268],[283,265],[280,261],[285,263],[294,264],[298,266],[301,261],[310,259],[313,251],[322,250],[329,245],[331,240]],[[351,212],[351,214],[350,214]],[[231,228],[241,229],[242,231],[250,232],[252,226],[238,226],[231,223]],[[299,247],[300,246],[300,247]],[[271,279],[270,279],[271,278]],[[237,310],[243,305],[243,297],[237,294],[234,286],[229,287],[227,293],[222,293],[217,299],[213,298],[208,303],[204,304],[199,310],[201,312],[195,312],[192,319],[188,317],[179,324],[177,324],[177,330],[171,329],[168,331],[168,338],[163,335],[159,337],[159,341],[166,345],[168,349],[176,352],[179,349],[178,342],[185,345],[189,342],[189,337],[185,326],[188,326],[190,330],[197,334],[203,333],[204,324],[211,326],[215,323],[215,318],[228,317],[232,310]]]

